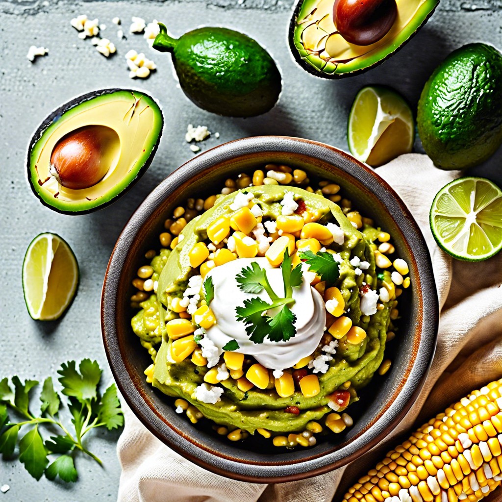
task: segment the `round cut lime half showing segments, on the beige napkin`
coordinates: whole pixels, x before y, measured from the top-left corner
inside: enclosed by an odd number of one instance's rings
[[[486,260],[502,248],[502,190],[485,178],[453,180],[434,198],[430,224],[449,255],[470,262]]]

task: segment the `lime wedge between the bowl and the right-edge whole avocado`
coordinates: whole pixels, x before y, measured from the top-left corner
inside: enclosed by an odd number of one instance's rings
[[[381,85],[357,93],[347,126],[348,147],[356,159],[378,167],[410,153],[414,140],[413,113],[401,94]]]

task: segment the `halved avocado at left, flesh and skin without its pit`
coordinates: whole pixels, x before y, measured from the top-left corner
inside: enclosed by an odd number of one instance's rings
[[[136,90],[103,89],[65,103],[42,122],[30,143],[28,179],[33,192],[44,205],[65,214],[88,213],[110,204],[150,166],[163,124],[159,105]],[[65,139],[88,130],[101,145],[104,175],[85,188],[63,186],[51,166],[53,152]]]

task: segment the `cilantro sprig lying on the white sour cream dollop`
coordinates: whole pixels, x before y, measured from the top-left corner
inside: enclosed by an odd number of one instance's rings
[[[254,343],[263,343],[266,337],[275,342],[287,341],[296,334],[294,326],[296,316],[290,307],[295,303],[293,288],[302,284],[302,270],[301,267],[292,268],[287,249],[284,252],[281,270],[284,282],[282,298],[270,286],[267,271],[256,262],[250,267],[244,267],[236,276],[242,291],[257,294],[265,290],[271,300],[268,302],[259,297],[246,298],[243,306],[235,308],[237,321],[242,321],[246,325],[246,333]],[[267,311],[279,307],[282,307],[281,310],[273,317],[267,315]]]

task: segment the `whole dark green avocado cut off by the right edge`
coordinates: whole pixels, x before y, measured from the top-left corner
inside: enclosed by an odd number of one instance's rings
[[[453,51],[422,90],[417,126],[424,150],[445,170],[487,160],[502,143],[502,55],[486,44]]]

